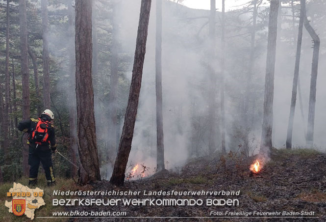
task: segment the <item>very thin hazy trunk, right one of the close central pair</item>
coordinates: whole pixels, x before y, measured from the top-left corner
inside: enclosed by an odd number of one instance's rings
[[[225,106],[224,106],[224,69],[225,69],[225,0],[222,0],[222,35],[221,35],[221,133],[222,153],[226,153],[225,145]]]

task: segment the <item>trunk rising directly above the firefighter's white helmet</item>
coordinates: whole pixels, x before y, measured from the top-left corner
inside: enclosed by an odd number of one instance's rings
[[[44,77],[44,109],[50,109],[50,55],[48,31],[48,0],[41,0],[42,32],[43,32],[43,77]]]

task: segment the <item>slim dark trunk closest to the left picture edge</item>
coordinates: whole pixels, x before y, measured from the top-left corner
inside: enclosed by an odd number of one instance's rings
[[[7,0],[6,7],[6,64],[5,64],[5,104],[3,115],[3,151],[4,151],[4,163],[8,164],[8,135],[9,135],[9,106],[10,106],[10,91],[9,91],[9,0]]]

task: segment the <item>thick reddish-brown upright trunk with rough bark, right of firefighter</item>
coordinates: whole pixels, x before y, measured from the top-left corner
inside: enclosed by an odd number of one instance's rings
[[[92,85],[92,1],[75,5],[77,136],[81,166],[78,182],[100,180]]]

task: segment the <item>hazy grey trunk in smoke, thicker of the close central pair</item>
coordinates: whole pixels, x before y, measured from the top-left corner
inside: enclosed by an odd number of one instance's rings
[[[210,14],[209,14],[209,104],[208,104],[208,115],[209,115],[209,136],[208,136],[208,152],[212,154],[217,148],[217,118],[216,118],[216,72],[215,66],[215,14],[216,4],[215,0],[210,1]]]

